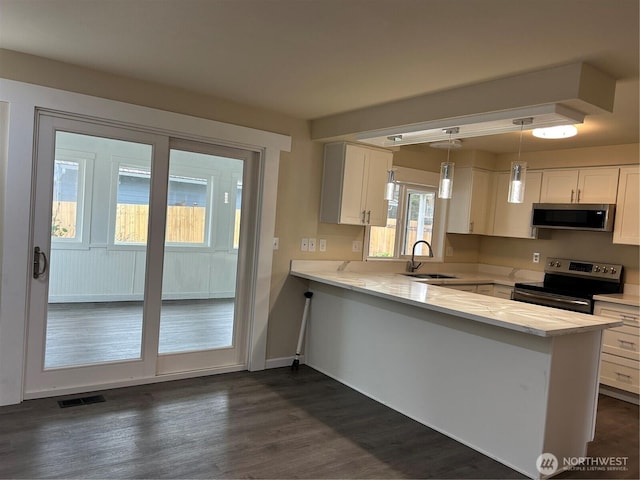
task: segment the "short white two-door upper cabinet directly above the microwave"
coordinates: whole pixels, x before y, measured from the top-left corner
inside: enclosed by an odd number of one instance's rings
[[[616,203],[618,167],[545,170],[542,203]]]

